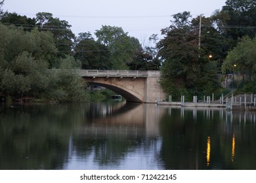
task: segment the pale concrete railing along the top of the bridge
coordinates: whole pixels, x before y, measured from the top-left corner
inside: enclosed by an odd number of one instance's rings
[[[78,69],[81,76],[108,76],[108,77],[147,77],[148,71],[128,71],[128,70],[83,70]]]

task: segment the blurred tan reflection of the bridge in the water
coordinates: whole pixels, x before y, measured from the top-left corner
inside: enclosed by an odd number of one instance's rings
[[[91,104],[91,113],[87,115],[88,125],[84,126],[84,133],[95,135],[146,135],[157,137],[159,123],[163,110],[157,105],[142,105],[123,101],[116,105]]]

